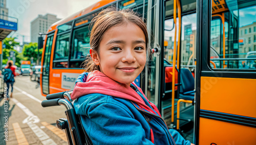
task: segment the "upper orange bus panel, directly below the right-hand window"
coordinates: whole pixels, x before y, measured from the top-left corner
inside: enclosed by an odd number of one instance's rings
[[[200,91],[200,109],[256,118],[256,79],[201,77]]]

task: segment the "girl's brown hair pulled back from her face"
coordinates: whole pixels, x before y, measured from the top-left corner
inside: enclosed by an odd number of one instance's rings
[[[131,9],[126,10],[117,10],[115,7],[109,7],[105,10],[102,10],[98,16],[94,17],[90,23],[90,26],[93,25],[90,37],[90,47],[99,54],[99,43],[104,37],[106,31],[111,27],[127,24],[132,22],[139,26],[145,35],[146,40],[146,52],[150,52],[148,47],[148,36],[146,24],[143,22],[142,18]],[[95,65],[91,56],[87,56],[86,61],[84,61],[84,68],[86,72],[91,72],[94,70],[100,70],[99,66]]]

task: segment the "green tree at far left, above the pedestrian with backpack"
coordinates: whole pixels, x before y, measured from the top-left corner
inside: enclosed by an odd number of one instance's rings
[[[16,42],[14,39],[16,38],[5,38],[3,40],[3,44],[5,44],[5,48],[3,49],[3,64],[6,64],[8,61],[8,57],[10,56],[10,51],[15,51],[16,63],[17,67],[20,66],[20,60],[23,59],[23,55],[20,54],[17,50],[14,50],[14,47],[19,46],[19,42]]]

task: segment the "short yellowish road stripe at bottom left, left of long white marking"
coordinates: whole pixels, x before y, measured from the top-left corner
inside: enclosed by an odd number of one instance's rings
[[[13,123],[12,126],[13,126],[14,133],[16,135],[18,144],[22,144],[22,145],[29,144],[19,124],[16,122],[16,123]]]

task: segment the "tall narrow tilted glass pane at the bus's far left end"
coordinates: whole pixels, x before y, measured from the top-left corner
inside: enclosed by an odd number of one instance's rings
[[[44,94],[49,94],[49,70],[50,70],[52,40],[53,40],[53,36],[50,36],[47,38],[44,61],[42,63],[42,93]]]

